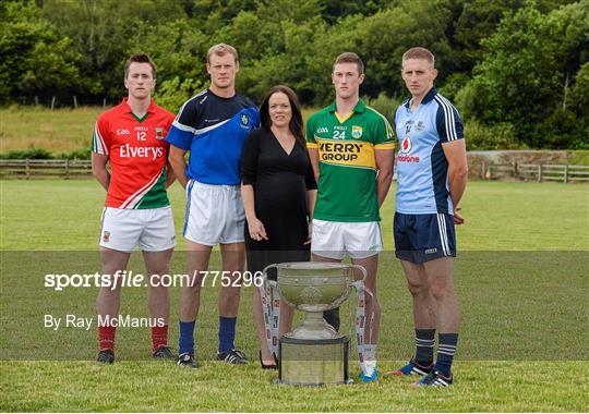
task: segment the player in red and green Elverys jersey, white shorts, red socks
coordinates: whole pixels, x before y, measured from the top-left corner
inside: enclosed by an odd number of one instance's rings
[[[139,244],[149,280],[147,305],[152,316],[153,356],[173,358],[168,348],[169,294],[167,288],[159,285],[157,276],[169,273],[176,245],[166,194],[173,173],[167,163],[169,144],[165,141],[175,117],[152,100],[155,74],[156,66],[145,53],[136,53],[127,61],[124,85],[129,96],[98,117],[92,144],[92,171],[107,191],[100,230],[103,273],[115,280],[117,272],[127,269],[131,252]],[[98,294],[100,363],[115,361],[120,289],[120,285],[105,287]]]

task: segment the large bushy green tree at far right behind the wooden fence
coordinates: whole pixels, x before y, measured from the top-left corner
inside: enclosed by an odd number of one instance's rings
[[[530,147],[567,147],[575,115],[563,108],[567,73],[586,59],[589,3],[543,14],[533,3],[507,13],[482,41],[482,61],[468,88],[467,115],[483,123],[508,122]],[[569,81],[570,83],[570,81]],[[558,112],[557,110],[565,112]]]

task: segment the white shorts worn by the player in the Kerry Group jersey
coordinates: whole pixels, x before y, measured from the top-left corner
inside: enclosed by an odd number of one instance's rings
[[[365,258],[383,251],[381,223],[341,222],[313,219],[311,252],[327,258]]]

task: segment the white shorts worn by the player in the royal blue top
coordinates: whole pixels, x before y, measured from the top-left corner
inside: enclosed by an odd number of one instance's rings
[[[239,185],[213,185],[190,180],[187,197],[187,240],[205,246],[244,241],[245,211]]]

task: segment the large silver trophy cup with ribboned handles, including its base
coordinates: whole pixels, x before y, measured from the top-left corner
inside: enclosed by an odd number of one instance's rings
[[[266,278],[273,267],[278,273],[277,281]],[[354,281],[354,269],[362,272],[361,280]],[[323,312],[341,305],[356,288],[362,306],[356,318],[362,358],[365,269],[358,265],[300,261],[271,265],[263,272],[262,302],[268,346],[278,355],[278,382],[304,386],[349,382],[349,339],[323,319]],[[304,319],[278,339],[280,300],[304,312]]]

